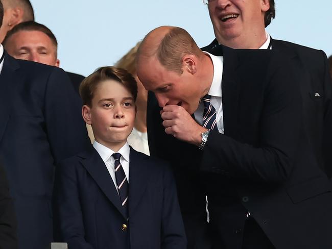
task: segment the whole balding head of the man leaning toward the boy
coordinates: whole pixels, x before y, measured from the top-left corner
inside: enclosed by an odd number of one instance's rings
[[[207,93],[213,65],[183,29],[159,27],[141,42],[136,61],[139,80],[153,91],[160,107],[182,106],[194,113]]]

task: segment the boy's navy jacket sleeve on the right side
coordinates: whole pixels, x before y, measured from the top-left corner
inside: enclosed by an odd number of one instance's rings
[[[178,203],[175,180],[170,167],[165,167],[163,186],[161,248],[185,249],[187,241]]]

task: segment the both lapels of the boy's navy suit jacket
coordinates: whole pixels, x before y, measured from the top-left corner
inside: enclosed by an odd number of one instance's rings
[[[89,150],[78,154],[78,157],[80,158],[80,163],[96,181],[104,194],[117,210],[126,217],[109,172],[98,152],[91,145]],[[148,156],[138,153],[130,147],[129,215],[135,212],[135,208],[146,190],[147,182],[149,181],[148,158]]]

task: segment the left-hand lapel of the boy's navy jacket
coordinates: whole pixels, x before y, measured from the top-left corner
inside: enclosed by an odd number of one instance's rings
[[[104,192],[116,209],[123,215],[123,217],[127,218],[121,205],[120,197],[115,189],[113,180],[98,152],[91,146],[91,151],[87,152],[85,155],[82,154],[81,158],[81,163],[89,172],[90,176],[94,179],[94,181],[96,181],[100,189]]]

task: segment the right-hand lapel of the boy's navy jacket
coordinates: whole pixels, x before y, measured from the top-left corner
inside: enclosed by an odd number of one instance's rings
[[[145,192],[149,172],[147,168],[148,156],[140,154],[130,147],[129,162],[129,217],[135,211],[141,196]]]

